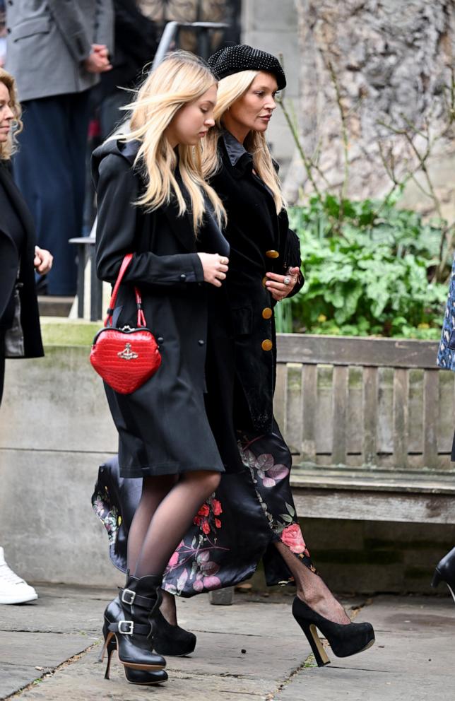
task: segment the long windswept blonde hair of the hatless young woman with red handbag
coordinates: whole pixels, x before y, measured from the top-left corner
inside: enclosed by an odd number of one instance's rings
[[[215,190],[201,175],[201,145],[179,144],[177,160],[164,132],[181,107],[200,98],[214,83],[213,74],[201,59],[189,52],[174,52],[150,73],[139,88],[136,100],[126,106],[126,110],[131,110],[131,131],[122,141],[141,141],[135,165],[141,167],[146,182],[146,191],[136,204],[153,211],[168,204],[174,195],[179,216],[187,211],[187,203],[175,177],[178,163],[191,202],[195,233],[206,211],[204,195],[211,201],[219,225],[225,222],[225,209]]]

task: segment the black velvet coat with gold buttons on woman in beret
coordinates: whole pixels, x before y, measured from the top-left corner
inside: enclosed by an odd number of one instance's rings
[[[270,190],[254,175],[252,156],[228,132],[219,148],[222,166],[211,184],[228,213],[224,233],[230,245],[226,290],[235,339],[235,428],[271,432],[276,302],[264,286],[264,276],[267,271],[283,275],[290,266],[300,267],[300,245],[286,212],[277,216]],[[293,295],[302,285],[301,275]],[[226,372],[223,384],[230,381]]]

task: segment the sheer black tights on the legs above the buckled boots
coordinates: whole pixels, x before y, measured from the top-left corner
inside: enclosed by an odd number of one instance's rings
[[[199,470],[180,476],[145,477],[128,535],[128,569],[135,577],[161,575],[220,473]]]

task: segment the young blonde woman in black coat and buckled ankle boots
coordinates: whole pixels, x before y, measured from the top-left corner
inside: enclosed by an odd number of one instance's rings
[[[206,287],[225,280],[229,250],[218,228],[223,206],[200,175],[201,139],[214,124],[216,93],[205,64],[186,52],[172,54],[138,91],[129,134],[93,154],[98,276],[112,283],[124,255],[134,253],[114,325],[136,324],[137,285],[162,355],[158,372],[133,394],[105,386],[119,432],[120,475],[143,479],[129,530],[126,587],[107,606],[104,630],[106,675],[117,644],[133,683],[167,678],[159,652],[172,647],[170,633],[178,637],[180,629],[159,611],[162,574],[224,471],[203,404]],[[203,243],[211,252],[198,252]],[[195,639],[186,636],[191,652]]]

